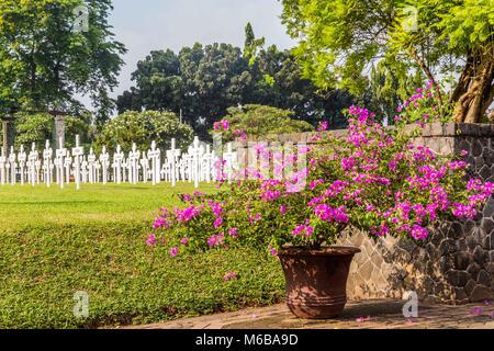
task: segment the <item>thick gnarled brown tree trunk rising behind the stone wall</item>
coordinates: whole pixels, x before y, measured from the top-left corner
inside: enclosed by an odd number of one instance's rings
[[[482,53],[473,61],[476,67],[467,67],[459,86],[451,95],[454,103],[453,117],[457,123],[480,123],[494,97],[494,56]]]

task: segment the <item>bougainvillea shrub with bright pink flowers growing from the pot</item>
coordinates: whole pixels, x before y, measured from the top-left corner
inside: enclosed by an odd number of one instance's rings
[[[303,151],[306,168],[284,180],[257,172],[255,179],[224,183],[218,194],[184,196],[184,208],[161,208],[148,245],[159,245],[161,236],[171,256],[239,245],[276,256],[287,244],[314,249],[335,244],[349,225],[373,237],[424,240],[438,219],[473,218],[494,183],[467,180],[467,162],[414,145],[404,127],[409,121],[401,122],[384,128],[372,113],[352,106],[348,135],[317,132],[321,146]],[[271,152],[262,146],[258,151]],[[300,154],[284,157],[283,166],[294,165]],[[306,186],[294,190],[301,178]]]

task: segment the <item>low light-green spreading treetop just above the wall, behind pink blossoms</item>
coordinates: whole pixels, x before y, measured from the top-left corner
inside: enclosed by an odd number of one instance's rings
[[[293,120],[293,112],[277,107],[248,104],[229,107],[228,115],[223,120],[229,123],[225,139],[233,139],[242,131],[249,137],[266,137],[287,133],[312,132],[314,127],[304,121]]]

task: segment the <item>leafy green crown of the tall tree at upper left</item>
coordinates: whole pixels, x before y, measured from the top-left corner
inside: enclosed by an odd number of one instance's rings
[[[72,31],[75,9],[89,9],[87,32]],[[0,103],[30,110],[79,111],[89,94],[97,121],[110,115],[124,46],[108,23],[111,0],[4,0],[0,3]]]

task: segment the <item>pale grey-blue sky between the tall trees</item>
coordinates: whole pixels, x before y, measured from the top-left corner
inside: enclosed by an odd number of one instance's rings
[[[247,22],[257,37],[266,37],[267,45],[294,46],[281,24],[278,0],[113,0],[113,7],[110,24],[115,39],[128,50],[113,98],[133,84],[131,73],[150,50],[170,48],[177,53],[195,42],[243,47]]]

